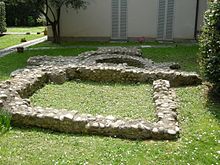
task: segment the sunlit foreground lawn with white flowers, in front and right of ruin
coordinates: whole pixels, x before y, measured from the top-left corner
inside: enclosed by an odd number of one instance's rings
[[[130,141],[13,128],[0,137],[1,164],[218,164],[220,105],[207,104],[205,86],[177,89],[177,141]],[[212,113],[211,113],[211,111]]]

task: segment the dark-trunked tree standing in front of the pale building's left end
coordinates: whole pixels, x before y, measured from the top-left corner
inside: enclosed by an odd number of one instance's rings
[[[25,0],[24,0],[25,1]],[[74,9],[86,8],[86,0],[26,0],[33,6],[37,6],[46,18],[48,25],[52,27],[53,42],[60,42],[60,16],[62,7],[70,7]]]

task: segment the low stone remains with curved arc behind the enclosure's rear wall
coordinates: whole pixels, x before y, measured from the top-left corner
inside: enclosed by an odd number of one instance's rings
[[[29,66],[64,66],[68,64],[85,65],[85,66],[114,66],[119,64],[126,68],[142,69],[180,69],[180,65],[174,62],[155,63],[150,59],[143,58],[141,50],[137,48],[99,48],[97,51],[88,51],[74,57],[48,57],[36,56],[28,60]],[[119,65],[119,66],[120,66]]]

